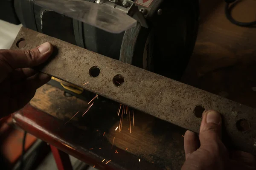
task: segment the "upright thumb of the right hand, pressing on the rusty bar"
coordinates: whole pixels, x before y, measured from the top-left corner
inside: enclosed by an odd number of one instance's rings
[[[216,111],[205,111],[200,126],[199,139],[201,146],[220,142],[221,114]]]

